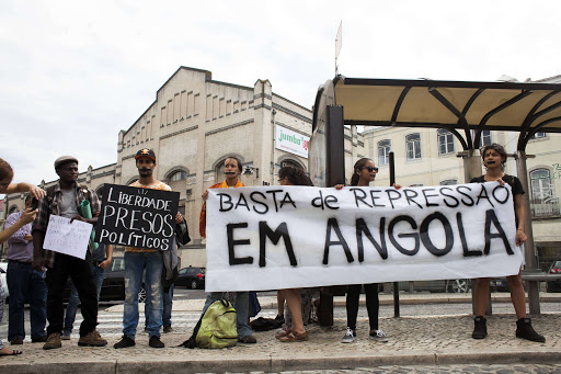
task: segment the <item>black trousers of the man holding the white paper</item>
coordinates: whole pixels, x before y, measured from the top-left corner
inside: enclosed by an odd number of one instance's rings
[[[91,265],[79,258],[57,253],[53,268],[47,268],[47,335],[61,333],[65,320],[62,294],[68,275],[80,297],[83,321],[80,325],[80,337],[84,337],[98,325],[98,291],[93,280]]]

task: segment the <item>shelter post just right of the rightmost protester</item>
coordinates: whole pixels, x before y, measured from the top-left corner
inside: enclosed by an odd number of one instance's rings
[[[526,151],[518,150],[516,159],[516,169],[518,171],[518,179],[526,193],[522,196],[522,204],[524,206],[524,233],[528,239],[524,243],[524,256],[526,259],[527,272],[540,272],[536,263],[536,247],[534,246],[534,231],[531,229],[531,211],[530,211],[530,191],[528,185],[528,169],[526,167]],[[539,287],[538,281],[527,281],[528,302],[530,306],[530,315],[537,316],[540,314],[539,307]]]

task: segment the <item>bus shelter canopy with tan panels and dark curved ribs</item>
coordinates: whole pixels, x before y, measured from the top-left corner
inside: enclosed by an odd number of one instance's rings
[[[479,148],[483,131],[520,133],[519,150],[538,132],[561,133],[559,83],[339,76],[332,84],[345,125],[446,128],[463,149]]]

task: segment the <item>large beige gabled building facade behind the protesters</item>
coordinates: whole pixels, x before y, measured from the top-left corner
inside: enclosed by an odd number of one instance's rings
[[[224,180],[226,157],[234,155],[242,160],[245,185],[278,184],[276,173],[283,165],[308,171],[306,157],[275,147],[275,132],[282,127],[310,137],[311,118],[310,109],[274,93],[268,80],[257,79],[253,87],[244,87],[213,80],[207,70],[180,67],[138,120],[118,133],[116,163],[98,169],[90,166],[79,182],[100,196],[104,183],[129,184],[138,178],[136,152],[152,148],[156,178],[180,192],[180,212],[193,240],[181,252],[182,265],[204,267],[204,240],[198,234],[201,195]],[[352,158],[357,152],[364,154],[362,136],[345,128],[345,154]],[[43,185],[53,183],[56,181]],[[23,207],[23,199],[11,195],[7,204],[11,213]]]

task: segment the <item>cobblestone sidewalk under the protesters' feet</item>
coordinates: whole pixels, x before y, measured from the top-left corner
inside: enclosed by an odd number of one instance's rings
[[[266,302],[266,299],[264,301]],[[174,307],[190,303],[178,302]],[[193,307],[193,306],[192,306]],[[112,307],[118,314],[118,306]],[[111,308],[110,308],[111,309]],[[175,309],[175,308],[174,308]],[[367,337],[368,321],[359,319],[358,338],[342,344],[345,321],[335,319],[333,329],[308,328],[307,342],[282,343],[274,331],[256,332],[257,344],[224,350],[175,348],[185,333],[162,336],[167,348],[148,347],[148,337],[137,335],[137,345],[115,350],[110,339],[105,348],[81,348],[77,339],[58,350],[43,351],[41,343],[24,343],[24,354],[1,358],[2,373],[220,373],[341,370],[387,365],[449,365],[462,363],[561,363],[561,311],[534,318],[546,343],[516,339],[513,315],[489,318],[489,337],[471,339],[471,316],[381,318],[380,328],[390,341],[377,343]]]

